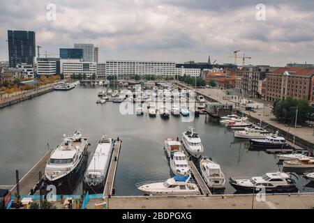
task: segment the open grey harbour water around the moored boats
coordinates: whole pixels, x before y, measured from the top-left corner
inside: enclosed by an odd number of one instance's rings
[[[62,134],[80,130],[90,137],[89,164],[103,134],[122,139],[114,189],[117,195],[140,195],[135,183],[170,178],[170,166],[163,151],[165,137],[181,139],[189,126],[195,127],[204,145],[204,155],[220,164],[226,179],[261,176],[280,171],[276,155],[248,151],[247,140],[234,139],[233,133],[209,116],[200,115],[193,122],[183,117],[121,115],[120,104],[96,105],[100,88],[78,87],[68,92],[52,92],[0,110],[0,185],[15,183],[15,169],[24,175],[50,148],[61,141]],[[197,162],[195,162],[197,164]],[[22,177],[22,176],[21,176]],[[309,180],[299,177],[300,191]],[[80,180],[72,187],[76,194]],[[226,183],[226,194],[234,193]]]

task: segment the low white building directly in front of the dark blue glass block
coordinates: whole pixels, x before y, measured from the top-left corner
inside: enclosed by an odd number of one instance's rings
[[[80,59],[61,59],[60,70],[64,77],[68,75],[96,75],[97,66],[95,62],[80,61]]]

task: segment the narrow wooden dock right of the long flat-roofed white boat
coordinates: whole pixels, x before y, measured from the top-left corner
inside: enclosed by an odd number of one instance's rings
[[[119,154],[121,150],[121,140],[119,138],[114,143],[114,151],[112,151],[112,157],[110,161],[110,167],[107,173],[107,178],[105,181],[105,187],[103,189],[103,198],[111,197],[114,195],[113,188],[114,188],[114,179],[116,177]]]

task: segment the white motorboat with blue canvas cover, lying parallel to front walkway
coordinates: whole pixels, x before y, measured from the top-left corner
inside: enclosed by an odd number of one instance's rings
[[[165,182],[137,184],[137,189],[147,195],[200,195],[195,183],[189,183],[190,176],[174,176]]]

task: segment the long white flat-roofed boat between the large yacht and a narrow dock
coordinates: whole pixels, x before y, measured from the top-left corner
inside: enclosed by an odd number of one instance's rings
[[[103,192],[113,145],[112,138],[105,135],[101,137],[91,163],[84,175],[84,187],[87,190]]]

